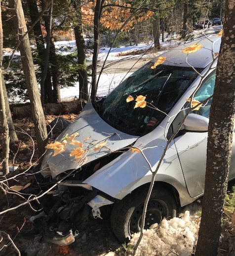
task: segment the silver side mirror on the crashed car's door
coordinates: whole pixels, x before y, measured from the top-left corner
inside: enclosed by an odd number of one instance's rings
[[[207,117],[190,113],[184,121],[184,129],[191,132],[207,132],[208,124]]]

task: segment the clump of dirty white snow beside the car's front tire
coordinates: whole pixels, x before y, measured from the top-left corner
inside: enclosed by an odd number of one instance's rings
[[[194,221],[189,211],[177,218],[162,220],[157,225],[154,224],[144,232],[144,236],[136,251],[136,256],[166,256],[180,255],[191,256],[198,238],[198,222]],[[139,238],[139,233],[132,236],[129,246],[135,245]]]

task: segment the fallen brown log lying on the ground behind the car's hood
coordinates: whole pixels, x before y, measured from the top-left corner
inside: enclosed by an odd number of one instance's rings
[[[82,110],[86,102],[83,100],[76,100],[71,102],[59,102],[59,103],[46,103],[44,104],[44,113],[48,115],[62,115],[74,113],[78,114]],[[32,116],[32,110],[30,103],[26,104],[12,104],[10,105],[13,118],[29,117]]]

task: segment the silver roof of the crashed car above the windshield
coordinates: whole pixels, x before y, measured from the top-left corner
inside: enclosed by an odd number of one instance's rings
[[[202,45],[203,48],[190,54],[182,52],[182,50],[192,44]],[[220,51],[220,44],[221,37],[213,36],[180,45],[170,51],[164,52],[160,56],[166,57],[164,65],[182,67],[189,67],[191,65],[195,68],[205,68],[209,63],[213,61],[213,58],[215,58],[213,54]],[[189,64],[186,62],[186,59]]]

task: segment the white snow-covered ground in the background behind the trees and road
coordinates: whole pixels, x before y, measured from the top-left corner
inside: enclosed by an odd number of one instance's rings
[[[198,31],[195,33],[198,33],[198,35],[195,36],[201,36]],[[176,45],[178,45],[180,42],[177,40],[172,40],[170,41],[169,38],[165,38],[165,42],[160,42],[161,48],[162,49],[169,49],[172,48]],[[128,58],[138,58],[140,55],[134,55],[135,51],[139,50],[148,50],[149,48],[153,47],[153,43],[150,42],[149,44],[138,44],[137,46],[121,46],[119,48],[112,48],[110,50],[109,47],[101,47],[99,54],[98,54],[98,61],[111,61],[111,60],[120,60],[123,58],[126,58],[125,54],[131,54],[133,52],[133,55],[128,55]],[[55,48],[56,51],[59,52],[60,54],[68,54],[71,52],[76,52],[77,47],[76,47],[76,41],[59,41],[55,42]],[[4,56],[9,56],[12,53],[11,49],[5,49],[3,55]],[[17,58],[17,56],[20,55],[19,51],[16,51],[14,53],[14,56]],[[143,55],[142,57],[146,57],[147,55]],[[149,58],[151,58],[150,55],[148,55]],[[87,54],[87,61],[92,61],[92,54]],[[98,83],[98,91],[97,91],[97,96],[106,96],[108,95],[118,84],[125,78],[127,78],[130,74],[132,73],[102,73],[100,75],[99,83]],[[69,87],[69,88],[62,88],[61,89],[61,99],[62,101],[69,101],[73,100],[74,98],[79,96],[79,83],[77,82],[74,87]],[[11,100],[11,99],[9,99]],[[20,99],[14,98],[15,102],[21,102]]]

